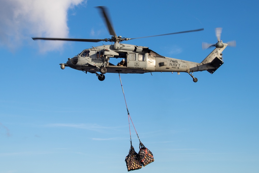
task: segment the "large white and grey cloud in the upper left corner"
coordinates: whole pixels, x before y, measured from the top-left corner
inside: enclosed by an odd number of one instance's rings
[[[15,49],[35,37],[68,37],[67,12],[86,0],[0,0],[0,45]],[[64,42],[38,42],[42,51]]]

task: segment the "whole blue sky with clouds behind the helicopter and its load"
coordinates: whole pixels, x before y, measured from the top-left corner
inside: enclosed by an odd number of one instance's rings
[[[31,39],[110,38],[96,6],[107,6],[122,37],[204,28],[125,42],[166,57],[200,63],[217,27],[223,42],[236,40],[215,73],[193,73],[196,83],[187,73],[121,74],[132,121],[155,159],[134,172],[259,172],[259,2],[0,0],[0,173],[127,172],[119,75],[99,81],[59,65],[109,43]]]

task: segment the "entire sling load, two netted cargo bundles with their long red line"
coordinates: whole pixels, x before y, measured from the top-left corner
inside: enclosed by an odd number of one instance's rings
[[[119,73],[119,77],[120,77],[120,73]],[[121,79],[120,79],[120,84],[121,84],[121,88],[122,88],[122,91],[123,91]],[[124,100],[125,100],[125,103],[126,103],[124,91],[123,91],[123,95],[124,95]],[[129,128],[130,128],[131,117],[130,117],[130,113],[128,111],[127,103],[126,103],[126,108],[127,108],[127,112],[128,112],[128,121],[129,121]],[[132,122],[132,119],[131,119],[131,122]],[[133,122],[132,122],[132,125],[135,129],[135,126],[134,126]],[[138,135],[136,129],[135,129],[135,132],[136,132],[136,134],[138,136],[138,139],[139,139],[139,135]],[[139,139],[139,153],[136,153],[136,151],[134,150],[134,147],[132,146],[131,131],[130,131],[130,143],[131,143],[130,151],[129,151],[129,154],[125,158],[125,162],[126,162],[126,166],[128,168],[128,171],[140,169],[140,168],[142,168],[142,165],[146,166],[147,164],[154,162],[154,157],[153,157],[152,152],[149,149],[147,149],[140,142],[140,139]]]

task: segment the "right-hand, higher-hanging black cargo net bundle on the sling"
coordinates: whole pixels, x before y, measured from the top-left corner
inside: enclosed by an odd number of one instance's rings
[[[139,157],[139,161],[143,166],[146,166],[147,164],[154,162],[154,157],[152,152],[149,151],[149,149],[147,149],[141,142],[139,143],[138,157]]]

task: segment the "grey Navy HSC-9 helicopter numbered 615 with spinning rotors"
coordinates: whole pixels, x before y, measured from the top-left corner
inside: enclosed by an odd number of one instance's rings
[[[84,42],[99,42],[106,41],[112,42],[111,45],[102,45],[97,47],[92,47],[90,49],[85,49],[78,55],[73,58],[68,58],[67,63],[61,63],[61,69],[65,67],[71,67],[76,70],[83,71],[85,73],[95,73],[100,81],[105,79],[105,73],[148,73],[148,72],[186,72],[192,78],[194,82],[197,82],[198,79],[195,78],[192,74],[197,71],[208,71],[211,74],[214,73],[224,62],[222,61],[222,51],[227,47],[228,43],[223,43],[220,41],[220,29],[216,29],[216,35],[218,37],[218,42],[216,44],[203,44],[203,47],[212,47],[216,48],[201,62],[195,63],[191,61],[185,61],[175,58],[169,58],[159,55],[158,53],[148,49],[144,46],[136,46],[131,44],[122,44],[122,41],[138,39],[138,38],[123,38],[117,36],[113,26],[108,17],[108,13],[105,6],[98,6],[102,13],[107,28],[112,35],[111,38],[105,39],[75,39],[75,38],[42,38],[42,37],[33,37],[33,40],[42,39],[42,40],[65,40],[65,41],[84,41]],[[156,37],[164,36],[170,34],[179,34],[187,32],[196,32],[202,31],[202,29],[189,30],[182,32],[174,32],[168,34],[161,34],[155,36],[147,37]],[[139,38],[147,38],[139,37]],[[114,44],[113,44],[114,42]],[[232,43],[235,44],[235,43]],[[118,63],[114,65],[110,63],[112,58],[122,58],[125,62]],[[97,73],[100,72],[101,74]]]

